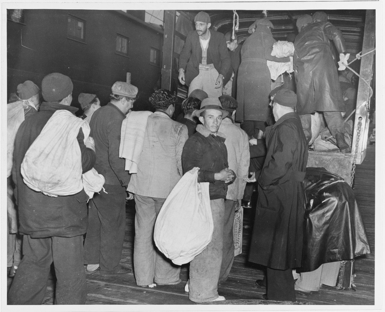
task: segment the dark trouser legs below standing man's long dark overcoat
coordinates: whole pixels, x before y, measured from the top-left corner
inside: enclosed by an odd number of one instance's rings
[[[292,271],[266,268],[268,300],[296,301]]]

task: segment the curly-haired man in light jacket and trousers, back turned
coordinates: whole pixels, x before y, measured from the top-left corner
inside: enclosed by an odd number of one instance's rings
[[[127,187],[135,194],[134,273],[142,287],[181,282],[181,267],[157,250],[153,236],[159,211],[183,175],[182,149],[188,138],[187,127],[171,119],[174,94],[159,89],[149,100],[155,112],[148,116],[137,173]]]

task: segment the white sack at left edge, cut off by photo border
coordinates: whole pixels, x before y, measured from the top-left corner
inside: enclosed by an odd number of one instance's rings
[[[7,104],[7,178],[10,177],[13,165],[13,149],[17,130],[24,121],[22,101]]]

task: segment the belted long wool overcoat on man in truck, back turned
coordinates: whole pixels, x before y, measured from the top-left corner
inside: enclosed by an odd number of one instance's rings
[[[267,60],[289,62],[289,57],[271,56],[275,40],[266,25],[257,25],[241,48],[237,77],[236,121],[266,121],[270,114],[271,75]]]

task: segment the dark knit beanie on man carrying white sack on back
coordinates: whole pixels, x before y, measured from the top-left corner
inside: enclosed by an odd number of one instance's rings
[[[63,100],[73,89],[71,79],[63,74],[48,74],[42,81],[42,96],[47,102]]]

